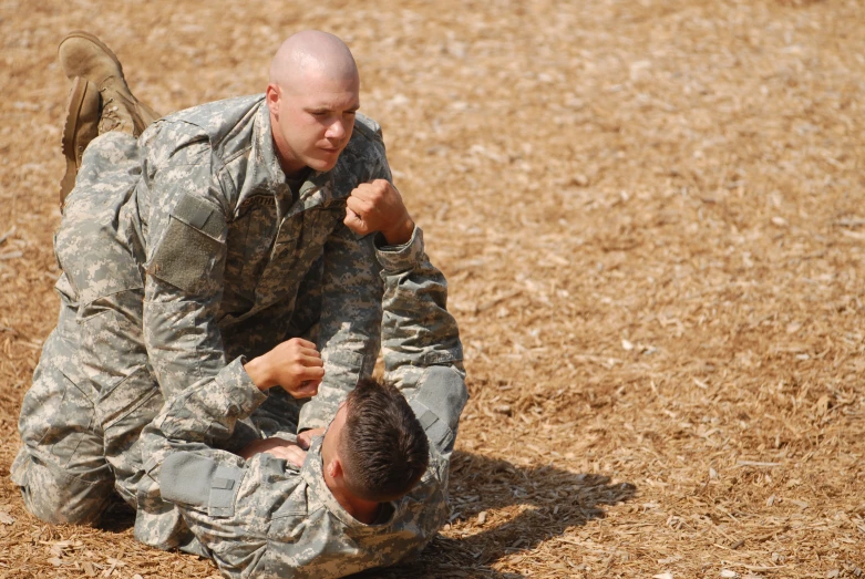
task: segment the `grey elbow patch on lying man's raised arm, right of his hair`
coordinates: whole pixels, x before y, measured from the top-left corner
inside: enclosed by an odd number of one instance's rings
[[[430,366],[410,401],[430,442],[443,452],[453,449],[460,414],[468,401],[463,378],[449,366]]]

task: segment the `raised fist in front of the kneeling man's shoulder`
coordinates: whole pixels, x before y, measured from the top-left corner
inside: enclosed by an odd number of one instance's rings
[[[400,192],[385,179],[358,185],[347,199],[342,223],[358,235],[381,231],[389,246],[408,242],[414,231]]]

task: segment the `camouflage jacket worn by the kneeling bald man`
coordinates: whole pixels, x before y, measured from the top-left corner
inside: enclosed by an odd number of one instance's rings
[[[358,184],[391,178],[378,124],[358,115],[334,168],[310,174],[296,192],[275,153],[264,95],[169,115],[138,146],[144,340],[165,399],[212,381],[240,354],[303,333],[316,323],[305,316],[321,311],[327,378],[300,427],[326,425],[379,350],[372,238],[342,224]]]

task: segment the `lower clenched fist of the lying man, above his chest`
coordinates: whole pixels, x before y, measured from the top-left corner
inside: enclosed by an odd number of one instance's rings
[[[279,385],[296,399],[318,394],[325,378],[325,363],[316,344],[300,338],[286,340],[247,362],[244,369],[259,390]]]

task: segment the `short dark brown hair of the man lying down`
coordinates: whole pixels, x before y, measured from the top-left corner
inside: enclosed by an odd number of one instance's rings
[[[395,500],[421,479],[430,443],[405,396],[391,385],[361,380],[347,399],[339,451],[346,486],[357,497]]]

